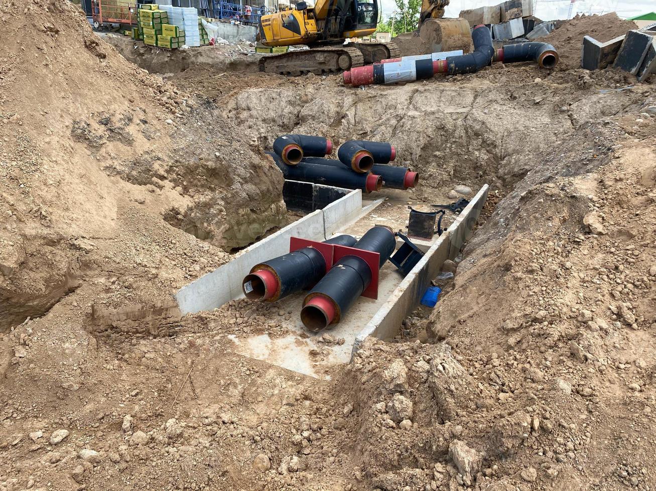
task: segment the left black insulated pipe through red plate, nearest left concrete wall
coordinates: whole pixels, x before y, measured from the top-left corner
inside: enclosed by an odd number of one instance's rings
[[[325,244],[338,244],[353,247],[356,238],[340,235]],[[264,263],[255,264],[247,274],[241,289],[249,300],[275,302],[299,290],[316,284],[326,272],[323,255],[314,247],[302,247]]]

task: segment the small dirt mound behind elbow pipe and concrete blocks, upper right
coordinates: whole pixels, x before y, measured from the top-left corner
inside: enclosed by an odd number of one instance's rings
[[[557,69],[570,70],[581,66],[581,46],[583,37],[591,36],[605,43],[614,37],[626,34],[630,29],[636,29],[631,20],[622,20],[615,12],[604,15],[579,15],[563,24],[549,35],[537,39],[553,45],[560,61]]]

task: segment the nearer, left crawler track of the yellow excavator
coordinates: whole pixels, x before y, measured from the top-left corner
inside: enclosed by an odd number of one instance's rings
[[[327,46],[310,48],[260,59],[260,71],[281,73],[282,75],[302,75],[304,73],[330,73],[350,70],[364,65],[364,57],[358,48],[351,46]]]

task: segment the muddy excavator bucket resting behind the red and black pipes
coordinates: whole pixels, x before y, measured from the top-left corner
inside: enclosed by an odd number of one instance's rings
[[[469,53],[474,47],[469,22],[464,19],[428,18],[418,31],[398,35],[394,43],[401,56],[453,50]]]

